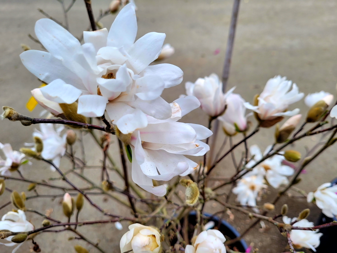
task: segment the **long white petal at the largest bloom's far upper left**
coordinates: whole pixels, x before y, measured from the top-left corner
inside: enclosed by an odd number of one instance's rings
[[[81,50],[81,43],[50,19],[38,20],[35,24],[35,34],[42,45],[59,60],[70,60]]]

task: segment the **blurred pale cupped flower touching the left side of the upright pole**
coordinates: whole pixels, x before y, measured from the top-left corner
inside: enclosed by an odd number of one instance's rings
[[[216,74],[209,77],[198,78],[195,83],[187,82],[185,84],[186,94],[195,96],[201,103],[203,109],[211,117],[221,115],[226,106],[226,97],[232,93],[235,87],[226,94],[222,91],[222,82]]]

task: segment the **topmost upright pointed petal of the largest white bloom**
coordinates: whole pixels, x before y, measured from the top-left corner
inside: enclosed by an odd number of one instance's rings
[[[127,4],[113,21],[109,35],[107,36],[107,45],[114,47],[124,47],[128,50],[136,39],[137,18],[135,6],[132,3]]]

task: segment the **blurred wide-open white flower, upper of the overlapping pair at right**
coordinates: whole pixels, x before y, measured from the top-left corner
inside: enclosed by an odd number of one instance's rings
[[[271,146],[267,147],[264,155],[268,154]],[[256,162],[262,159],[263,155],[257,145],[250,148],[250,153],[253,158],[247,163],[247,168],[252,168]],[[294,169],[287,165],[282,165],[285,160],[283,155],[273,155],[271,158],[264,160],[257,165],[252,171],[248,172],[245,176],[260,175],[264,176],[267,182],[274,188],[279,188],[281,185],[289,183],[287,176],[294,174]]]

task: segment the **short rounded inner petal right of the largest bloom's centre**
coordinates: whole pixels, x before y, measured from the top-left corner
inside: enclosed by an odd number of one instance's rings
[[[154,100],[164,89],[164,81],[159,76],[145,76],[136,80],[136,95],[142,100]]]

